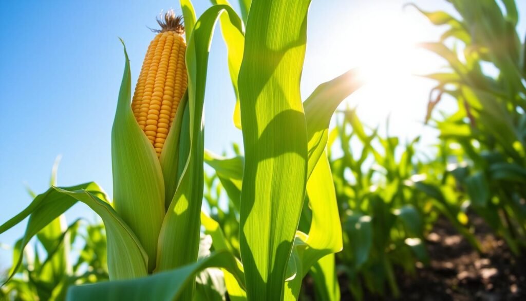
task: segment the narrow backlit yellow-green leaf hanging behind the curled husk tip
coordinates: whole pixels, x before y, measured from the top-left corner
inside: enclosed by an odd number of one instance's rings
[[[228,5],[227,0],[211,0],[213,4]],[[241,4],[241,12],[243,12],[244,3]],[[249,4],[250,5],[250,4]],[[246,18],[244,18],[246,21]],[[245,48],[245,35],[244,32],[240,31],[235,25],[233,25],[228,15],[222,14],[219,18],[221,25],[221,33],[223,40],[227,46],[228,52],[228,70],[230,72],[230,79],[232,80],[232,86],[234,86],[234,93],[236,94],[236,107],[234,109],[234,124],[238,129],[241,129],[241,111],[239,107],[239,90],[237,86],[237,80],[239,76],[239,68],[241,67],[241,60],[243,58],[243,51]]]

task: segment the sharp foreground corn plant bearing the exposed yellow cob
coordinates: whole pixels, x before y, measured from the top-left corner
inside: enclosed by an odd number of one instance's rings
[[[215,296],[208,289],[219,292],[214,289],[219,280],[201,273],[208,268],[222,270],[231,300],[296,300],[310,268],[317,266],[318,275],[330,269],[331,260],[323,259],[342,248],[325,149],[333,112],[360,83],[351,70],[301,101],[309,0],[244,0],[241,17],[228,2],[217,0],[198,19],[189,0],[180,2],[187,45],[181,18],[169,13],[159,20],[161,30],[148,48],[133,101],[125,50],[112,131],[113,202],[93,182],[52,186],[0,226],[0,233],[29,216],[24,249],[75,202],[93,209],[105,226],[110,281],[74,286],[69,300]],[[215,158],[217,167],[210,165],[218,174],[219,169],[237,174],[232,186],[239,191],[232,198],[239,204],[238,253],[236,242],[222,240],[217,222],[201,213],[203,108],[217,20],[228,49],[237,97],[234,124],[242,128],[244,157]],[[308,232],[298,230],[306,197]],[[214,253],[198,260],[201,224]]]

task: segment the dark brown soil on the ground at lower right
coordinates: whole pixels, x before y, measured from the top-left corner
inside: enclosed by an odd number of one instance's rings
[[[439,219],[427,237],[430,264],[417,263],[416,275],[397,270],[398,300],[503,301],[526,300],[526,256],[515,257],[500,238],[477,217],[471,217],[484,254]],[[353,300],[345,278],[339,277],[341,300]],[[396,300],[366,294],[364,300]]]

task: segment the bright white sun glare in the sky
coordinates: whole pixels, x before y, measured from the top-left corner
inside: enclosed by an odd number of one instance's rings
[[[423,121],[434,85],[417,75],[437,72],[444,65],[418,44],[438,41],[439,31],[416,9],[401,5],[393,11],[371,3],[360,7],[360,14],[342,19],[346,21],[339,26],[346,36],[337,33],[330,40],[347,53],[329,55],[327,66],[358,67],[365,83],[342,108],[357,106],[358,116],[371,127],[385,123],[389,116],[396,133],[413,131]]]

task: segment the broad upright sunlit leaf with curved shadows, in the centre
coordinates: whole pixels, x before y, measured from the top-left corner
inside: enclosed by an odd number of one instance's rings
[[[240,250],[249,300],[280,300],[305,198],[299,83],[310,1],[253,1],[239,72],[245,167]]]

